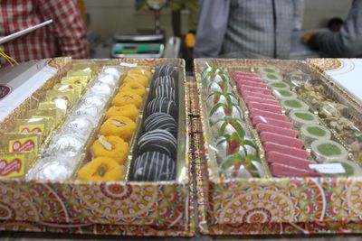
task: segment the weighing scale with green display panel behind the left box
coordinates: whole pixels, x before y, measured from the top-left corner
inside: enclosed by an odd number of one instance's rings
[[[160,10],[167,0],[148,0],[154,11],[155,29],[116,32],[113,36],[110,56],[112,58],[161,58],[165,51],[165,32],[160,30]]]

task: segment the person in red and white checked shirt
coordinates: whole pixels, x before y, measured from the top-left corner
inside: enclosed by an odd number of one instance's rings
[[[1,0],[0,13],[0,36],[49,19],[53,21],[52,24],[1,45],[5,53],[15,60],[22,62],[59,56],[90,56],[76,0]]]

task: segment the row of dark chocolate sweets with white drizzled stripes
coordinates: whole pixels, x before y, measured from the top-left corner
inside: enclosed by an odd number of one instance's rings
[[[169,65],[158,66],[149,89],[130,181],[176,179],[178,89],[178,70]]]

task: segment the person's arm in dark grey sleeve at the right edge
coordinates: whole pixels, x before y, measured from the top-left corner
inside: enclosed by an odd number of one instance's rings
[[[312,33],[306,42],[327,57],[362,57],[362,0],[353,0],[339,32]]]

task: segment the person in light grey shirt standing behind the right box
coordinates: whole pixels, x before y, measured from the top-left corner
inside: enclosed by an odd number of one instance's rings
[[[288,59],[300,1],[200,0],[195,57]]]

